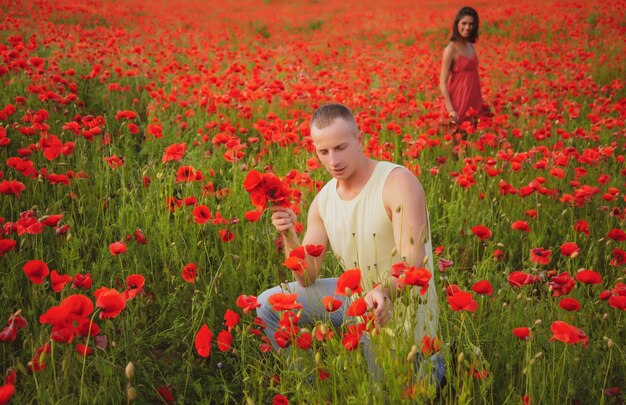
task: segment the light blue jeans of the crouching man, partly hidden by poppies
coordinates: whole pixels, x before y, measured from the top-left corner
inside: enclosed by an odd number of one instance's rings
[[[287,284],[287,289],[283,290],[281,286],[276,286],[274,288],[270,288],[269,290],[263,291],[258,297],[257,302],[261,304],[259,308],[257,308],[257,316],[265,322],[265,334],[268,339],[272,343],[274,349],[278,349],[279,346],[276,343],[276,339],[274,338],[274,333],[278,329],[278,322],[280,321],[280,315],[278,312],[272,309],[272,306],[268,303],[268,298],[276,293],[285,293],[285,294],[298,294],[297,302],[302,304],[302,314],[300,317],[299,326],[310,326],[314,325],[318,321],[322,322],[330,322],[335,327],[340,327],[345,319],[345,314],[348,309],[348,300],[343,295],[338,295],[335,293],[335,289],[337,287],[337,278],[322,278],[317,279],[314,284],[309,287],[302,287],[297,282],[291,282]],[[322,303],[322,298],[325,296],[332,296],[335,299],[338,299],[342,302],[341,307],[332,313],[329,313],[326,308],[324,308],[324,304]],[[369,337],[366,334],[363,334],[361,338],[361,343],[363,347],[363,354],[365,355],[365,359],[367,360],[367,367],[370,372],[370,375],[374,378],[375,381],[378,381],[379,377],[382,375],[382,371],[376,364],[376,355],[374,345],[371,344]],[[417,342],[419,343],[419,342]],[[424,361],[424,357],[415,356],[415,369],[420,370],[421,366],[425,366],[426,364],[422,364]],[[441,381],[445,375],[445,363],[443,359],[443,355],[441,353],[435,353],[428,361],[432,362],[432,368],[430,371],[431,380],[437,384],[437,387],[440,386]],[[420,376],[423,376],[423,372],[419,372]]]

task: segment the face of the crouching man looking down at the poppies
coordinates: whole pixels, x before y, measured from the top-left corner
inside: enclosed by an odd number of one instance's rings
[[[361,157],[361,145],[355,128],[343,118],[336,118],[324,129],[311,127],[311,138],[317,156],[337,180],[349,178]]]

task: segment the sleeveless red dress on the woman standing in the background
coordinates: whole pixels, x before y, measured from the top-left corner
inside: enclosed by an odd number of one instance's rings
[[[474,110],[475,117],[482,114],[483,97],[480,93],[476,53],[471,58],[459,55],[452,65],[448,78],[448,94],[454,110],[459,114],[458,125],[470,119],[467,116],[470,108]]]

